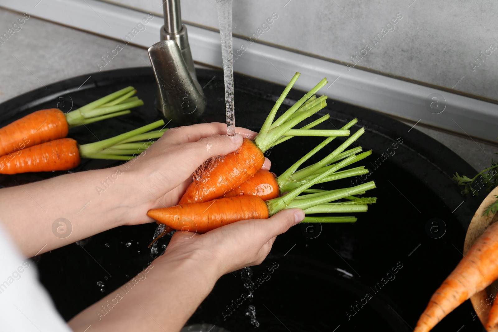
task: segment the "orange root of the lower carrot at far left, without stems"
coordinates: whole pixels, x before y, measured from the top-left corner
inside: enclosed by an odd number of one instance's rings
[[[1,157],[0,174],[65,171],[79,164],[78,143],[72,138],[61,138]]]

